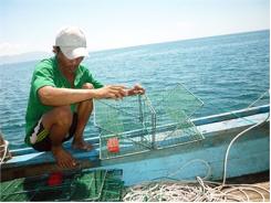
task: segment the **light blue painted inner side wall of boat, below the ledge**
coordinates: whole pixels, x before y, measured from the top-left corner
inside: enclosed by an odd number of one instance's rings
[[[232,147],[228,161],[228,178],[269,170],[269,137],[258,136],[260,137],[259,139],[239,141]],[[209,146],[200,147],[202,148],[190,151],[184,150],[183,152],[175,150],[176,154],[171,153],[171,156],[164,158],[157,157],[117,164],[112,162],[110,164],[102,163],[105,164],[104,169],[122,169],[124,171],[124,181],[127,185],[163,177],[195,180],[196,177],[205,177],[207,174],[208,167],[202,161],[206,161],[211,169],[211,175],[208,180],[222,179],[223,159],[228,142],[212,148],[209,148]],[[189,162],[191,163],[188,164]]]

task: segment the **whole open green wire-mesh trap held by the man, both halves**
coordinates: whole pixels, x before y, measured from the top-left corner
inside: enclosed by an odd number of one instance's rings
[[[101,159],[204,139],[190,120],[204,103],[183,84],[155,93],[150,99],[138,95],[122,100],[95,100],[94,122],[100,129]],[[114,150],[110,146],[112,139]]]

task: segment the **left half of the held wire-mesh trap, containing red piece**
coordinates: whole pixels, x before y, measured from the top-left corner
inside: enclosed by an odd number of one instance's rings
[[[146,95],[129,96],[123,100],[95,100],[94,124],[100,129],[101,159],[154,148],[155,116]]]

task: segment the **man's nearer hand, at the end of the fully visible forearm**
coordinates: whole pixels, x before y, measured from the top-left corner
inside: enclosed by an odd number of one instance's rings
[[[127,96],[127,89],[122,85],[107,85],[105,87],[95,89],[95,98],[115,98],[119,99]]]

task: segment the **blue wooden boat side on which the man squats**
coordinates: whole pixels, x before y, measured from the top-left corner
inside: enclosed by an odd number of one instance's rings
[[[65,148],[77,159],[74,169],[122,169],[126,185],[160,178],[191,180],[201,177],[221,180],[230,141],[249,127],[264,121],[238,138],[229,151],[227,178],[268,171],[270,167],[269,105],[194,119],[205,139],[154,149],[113,159],[100,159],[100,139],[90,138],[90,152]],[[159,130],[159,128],[157,128]],[[1,181],[61,170],[50,152],[33,149],[11,151],[13,158],[1,165]]]

